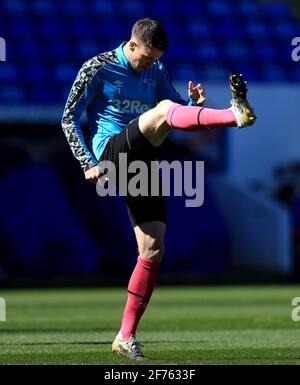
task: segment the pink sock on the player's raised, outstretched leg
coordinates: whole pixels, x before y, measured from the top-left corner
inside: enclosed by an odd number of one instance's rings
[[[231,110],[182,106],[174,103],[167,114],[169,126],[185,131],[200,131],[205,128],[236,127],[237,122]]]

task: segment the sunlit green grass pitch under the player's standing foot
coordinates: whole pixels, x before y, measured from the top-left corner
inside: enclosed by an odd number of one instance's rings
[[[1,364],[136,364],[111,353],[126,288],[0,296]],[[159,287],[137,337],[152,365],[300,364],[293,297],[300,286]]]

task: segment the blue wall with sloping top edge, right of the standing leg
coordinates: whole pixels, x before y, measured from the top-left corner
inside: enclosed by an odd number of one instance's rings
[[[230,265],[291,274],[294,261],[288,209],[224,176],[211,176],[210,182],[228,229]]]

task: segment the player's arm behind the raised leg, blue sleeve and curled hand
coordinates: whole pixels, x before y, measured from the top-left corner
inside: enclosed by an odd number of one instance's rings
[[[158,101],[164,100],[164,99],[170,99],[174,101],[175,103],[179,104],[188,104],[190,106],[201,106],[205,102],[205,90],[201,86],[201,84],[197,84],[196,86],[193,85],[192,81],[189,81],[188,84],[188,96],[189,101],[182,99],[180,94],[175,89],[170,76],[163,66],[163,64],[160,63],[160,71],[161,71],[161,78],[160,78],[160,84],[159,84],[159,90],[158,90]]]

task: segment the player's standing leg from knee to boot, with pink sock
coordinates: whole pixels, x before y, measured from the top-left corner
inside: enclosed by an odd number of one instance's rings
[[[158,221],[134,228],[140,255],[129,281],[121,329],[112,344],[113,352],[132,360],[145,359],[135,333],[156,285],[164,253],[165,230],[165,223]]]

